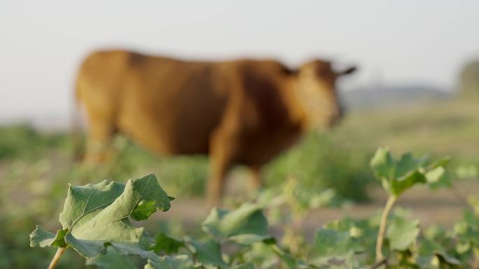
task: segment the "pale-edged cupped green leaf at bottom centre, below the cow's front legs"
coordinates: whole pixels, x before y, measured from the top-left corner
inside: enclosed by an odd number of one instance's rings
[[[213,208],[203,221],[202,228],[217,241],[232,240],[250,244],[269,238],[268,220],[263,208],[251,203],[244,203],[233,211]]]

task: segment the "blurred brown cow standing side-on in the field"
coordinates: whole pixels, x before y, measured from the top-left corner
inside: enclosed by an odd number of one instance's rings
[[[88,113],[87,159],[101,161],[117,132],[161,154],[209,154],[210,203],[221,202],[235,163],[258,170],[310,126],[341,109],[335,73],[315,60],[292,71],[274,60],[182,61],[129,51],[90,54],[77,100]]]

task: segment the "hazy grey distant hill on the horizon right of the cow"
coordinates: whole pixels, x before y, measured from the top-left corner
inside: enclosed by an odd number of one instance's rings
[[[449,99],[454,93],[428,85],[396,85],[377,89],[352,89],[341,92],[342,102],[348,109],[382,108],[417,101]]]

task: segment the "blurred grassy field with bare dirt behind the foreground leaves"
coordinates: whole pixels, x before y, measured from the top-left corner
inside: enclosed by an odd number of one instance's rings
[[[172,210],[157,213],[141,225],[152,235],[158,231],[201,234],[200,222],[209,214],[202,196],[207,159],[154,156],[125,137],[118,138],[115,147],[117,156],[109,163],[84,166],[72,161],[73,145],[66,133],[42,133],[28,126],[0,128],[0,268],[46,268],[55,249],[30,248],[28,235],[36,224],[48,231],[60,228],[57,216],[63,209],[67,183],[126,182],[154,173],[161,187],[176,200]],[[275,210],[267,210],[270,233],[291,246],[291,254],[299,254],[294,246],[311,244],[323,224],[346,216],[379,214],[389,196],[369,167],[378,147],[388,147],[395,157],[412,152],[415,157],[430,154],[431,159],[452,158],[447,171],[454,187],[431,191],[417,186],[397,201],[397,205],[410,209],[412,219],[419,219],[421,228],[433,224],[452,228],[468,206],[466,198],[479,192],[477,100],[362,108],[350,111],[331,131],[308,134],[263,170],[266,184],[260,196],[270,193],[293,201],[286,199],[289,211],[282,212],[291,223],[277,221]],[[230,175],[225,199],[228,208],[256,197],[249,190],[248,177],[241,167]],[[301,198],[318,202],[312,205]],[[444,254],[438,259],[448,258]],[[67,251],[57,268],[83,268],[83,261],[74,251]]]

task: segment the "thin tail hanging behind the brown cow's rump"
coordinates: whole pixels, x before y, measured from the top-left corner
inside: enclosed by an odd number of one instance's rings
[[[72,144],[72,159],[74,161],[82,161],[85,156],[85,147],[83,145],[83,133],[82,133],[82,122],[81,122],[81,99],[80,99],[80,90],[78,89],[79,80],[76,79],[75,89],[74,89],[74,105],[71,109],[71,144]]]

